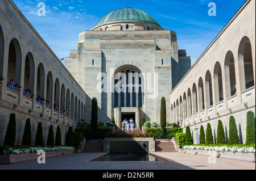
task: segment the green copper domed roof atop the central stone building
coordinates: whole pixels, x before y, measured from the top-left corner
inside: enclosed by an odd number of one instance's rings
[[[146,12],[137,10],[137,9],[132,9],[130,7],[109,12],[98,21],[96,26],[100,24],[108,23],[108,22],[115,22],[115,21],[122,21],[122,20],[137,20],[142,22],[154,23],[160,26],[159,23],[156,22],[156,20]]]

